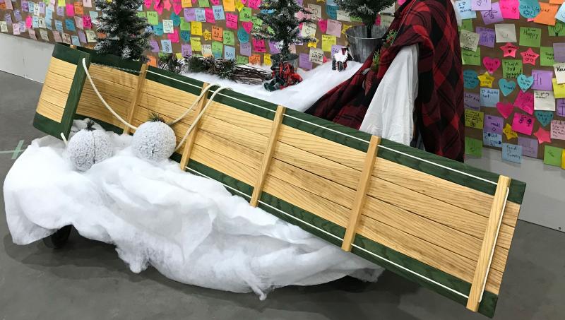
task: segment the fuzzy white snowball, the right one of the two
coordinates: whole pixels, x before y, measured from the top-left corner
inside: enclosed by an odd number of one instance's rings
[[[160,121],[141,124],[133,134],[131,149],[141,159],[162,161],[174,153],[177,137],[171,127]]]

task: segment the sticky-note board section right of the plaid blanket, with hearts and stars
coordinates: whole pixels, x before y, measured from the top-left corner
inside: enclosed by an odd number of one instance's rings
[[[565,164],[563,0],[459,0],[465,153]]]

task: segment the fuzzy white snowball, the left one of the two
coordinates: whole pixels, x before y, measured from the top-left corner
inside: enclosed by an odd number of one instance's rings
[[[67,153],[77,170],[86,171],[95,163],[112,157],[112,148],[105,131],[82,129],[69,140]]]

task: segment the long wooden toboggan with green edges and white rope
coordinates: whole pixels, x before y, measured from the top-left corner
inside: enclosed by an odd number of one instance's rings
[[[205,83],[84,48],[56,45],[34,126],[69,136],[89,117],[119,122],[85,82],[82,66],[120,117],[186,111]],[[195,110],[173,126],[182,138]],[[278,218],[426,288],[494,315],[525,184],[270,102],[222,91],[172,158],[218,180]]]

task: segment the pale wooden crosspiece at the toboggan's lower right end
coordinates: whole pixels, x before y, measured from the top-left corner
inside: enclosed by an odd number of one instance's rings
[[[492,207],[490,209],[489,221],[487,229],[482,239],[482,247],[475,268],[475,276],[472,278],[471,291],[467,300],[467,309],[473,312],[479,310],[479,305],[484,292],[484,286],[487,283],[492,256],[494,254],[494,246],[498,239],[500,225],[502,223],[503,210],[506,206],[506,198],[508,196],[508,188],[510,186],[510,178],[500,176],[496,186]]]

